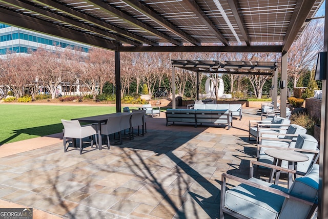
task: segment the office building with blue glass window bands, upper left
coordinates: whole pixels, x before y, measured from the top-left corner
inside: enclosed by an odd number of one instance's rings
[[[49,50],[55,47],[74,48],[81,52],[88,52],[90,46],[68,41],[54,36],[37,33],[22,28],[0,24],[0,55],[9,53],[29,53],[38,47]]]

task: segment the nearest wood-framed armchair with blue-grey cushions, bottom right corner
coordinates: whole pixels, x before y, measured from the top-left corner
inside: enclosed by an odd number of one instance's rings
[[[276,168],[276,166],[271,166]],[[284,169],[284,171],[290,171]],[[239,184],[226,190],[227,180]],[[288,190],[251,176],[244,180],[227,173],[222,174],[220,218],[225,214],[236,218],[311,218],[317,208],[319,191],[319,165],[295,180]]]

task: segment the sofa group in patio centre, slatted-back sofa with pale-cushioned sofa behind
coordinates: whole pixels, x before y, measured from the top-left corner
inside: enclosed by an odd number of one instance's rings
[[[176,122],[197,124],[211,123],[214,125],[232,126],[233,116],[242,118],[241,104],[193,104],[188,109],[167,109],[166,125]]]

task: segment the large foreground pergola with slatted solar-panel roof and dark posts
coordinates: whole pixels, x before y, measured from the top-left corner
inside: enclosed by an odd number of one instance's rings
[[[115,51],[117,85],[120,52],[281,53],[281,80],[287,81],[288,51],[323,1],[0,0],[0,22]],[[327,30],[326,19],[324,51]],[[286,96],[287,89],[281,89],[281,115]],[[120,111],[119,86],[116,97]],[[327,117],[323,99],[319,218],[328,218]]]

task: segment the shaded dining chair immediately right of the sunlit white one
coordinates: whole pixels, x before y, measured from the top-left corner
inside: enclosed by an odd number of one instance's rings
[[[107,147],[109,149],[110,140],[109,136],[111,134],[114,134],[114,141],[115,141],[115,133],[118,133],[119,138],[119,144],[122,144],[121,139],[121,128],[120,128],[120,122],[121,122],[121,115],[111,115],[106,124],[101,124],[101,134],[107,136]]]

